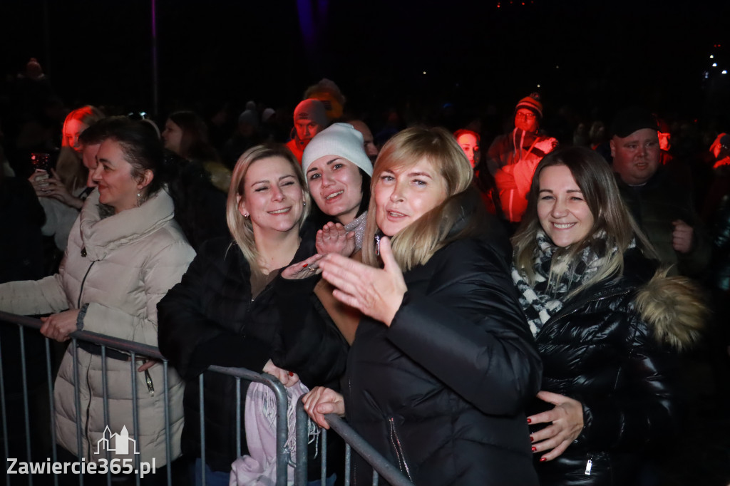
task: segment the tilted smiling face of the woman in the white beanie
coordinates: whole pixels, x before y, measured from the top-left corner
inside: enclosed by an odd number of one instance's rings
[[[358,214],[363,198],[363,178],[358,166],[337,157],[320,157],[307,169],[310,193],[319,209],[346,225]]]

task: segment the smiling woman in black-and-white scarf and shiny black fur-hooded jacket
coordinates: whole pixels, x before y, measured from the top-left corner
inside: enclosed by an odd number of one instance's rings
[[[675,352],[704,308],[665,277],[610,166],[565,147],[538,164],[512,279],[544,370],[529,423],[541,485],[625,485],[675,428]]]

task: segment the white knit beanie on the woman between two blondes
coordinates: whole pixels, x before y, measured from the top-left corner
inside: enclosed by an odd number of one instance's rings
[[[312,162],[325,155],[344,158],[372,176],[372,162],[365,153],[363,136],[349,123],[332,123],[312,138],[304,149],[304,155],[301,156],[301,169],[304,174],[307,174]]]

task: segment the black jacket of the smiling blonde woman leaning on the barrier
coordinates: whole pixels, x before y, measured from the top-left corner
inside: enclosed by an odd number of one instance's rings
[[[314,238],[304,236],[293,261],[314,253]],[[160,351],[187,381],[183,453],[200,456],[198,377],[210,365],[261,371],[271,358],[307,387],[337,385],[347,343],[312,292],[317,280],[276,277],[252,300],[250,267],[237,245],[203,244],[182,282],[158,304]],[[235,380],[205,372],[204,384],[205,459],[214,471],[230,471],[237,458]],[[248,384],[242,382],[242,400]],[[243,417],[241,424],[246,454]]]

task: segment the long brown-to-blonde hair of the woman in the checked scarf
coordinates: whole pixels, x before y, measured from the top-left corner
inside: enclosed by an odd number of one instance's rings
[[[539,179],[542,171],[552,166],[566,166],[570,170],[580,192],[583,193],[588,209],[591,210],[593,227],[580,242],[556,250],[550,265],[548,280],[553,282],[557,277],[553,274],[557,261],[566,261],[568,265],[561,266],[561,268],[570,271],[575,268],[575,264],[580,260],[580,253],[585,248],[591,247],[594,252],[599,252],[601,249],[607,250],[603,266],[591,279],[572,290],[568,298],[596,282],[612,276],[621,276],[623,274],[623,253],[629,248],[634,237],[645,254],[650,257],[655,256],[653,247],[639,229],[634,218],[631,217],[629,209],[623,204],[613,172],[604,158],[585,147],[563,147],[545,155],[545,158],[537,164],[532,177],[527,211],[523,216],[520,228],[512,237],[515,267],[526,276],[526,281],[530,285],[534,283],[535,277],[533,261],[534,252],[537,249],[537,232],[542,229],[537,215]],[[612,251],[613,248],[617,248],[618,251]]]

